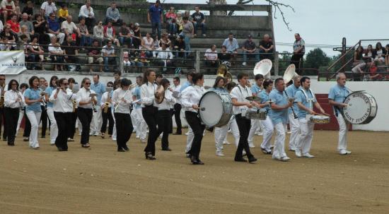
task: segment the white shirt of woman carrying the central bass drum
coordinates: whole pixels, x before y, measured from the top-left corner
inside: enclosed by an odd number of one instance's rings
[[[205,92],[206,91],[203,87],[190,85],[181,93],[181,105],[185,107],[186,111],[197,113],[197,110],[193,109],[192,105],[199,105],[199,101]]]

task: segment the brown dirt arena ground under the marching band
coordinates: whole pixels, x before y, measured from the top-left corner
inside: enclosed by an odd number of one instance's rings
[[[255,136],[258,162],[248,164],[233,161],[232,144],[216,157],[207,132],[205,165],[190,165],[185,135],[170,136],[171,152],[157,141],[149,161],[134,135],[127,153],[100,137],[81,148],[79,136],[60,153],[48,136],[32,150],[19,134],[16,146],[0,144],[0,213],[389,213],[388,137],[351,131],[353,153],[341,156],[336,131],[315,131],[315,158],[288,151],[291,161],[279,162],[260,152]]]

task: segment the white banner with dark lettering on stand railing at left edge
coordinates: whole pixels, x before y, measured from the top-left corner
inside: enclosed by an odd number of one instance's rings
[[[23,50],[0,52],[1,74],[16,75],[25,70]]]

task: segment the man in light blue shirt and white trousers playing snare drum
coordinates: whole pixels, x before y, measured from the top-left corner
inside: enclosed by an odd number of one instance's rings
[[[315,124],[310,121],[310,117],[318,114],[313,111],[315,106],[322,114],[325,114],[324,109],[320,106],[318,100],[316,100],[315,94],[310,90],[310,78],[304,76],[300,80],[301,88],[297,90],[294,102],[297,102],[298,106],[298,122],[300,124],[300,137],[296,145],[296,156],[313,158],[314,155],[310,155],[310,145],[313,138],[313,127]]]

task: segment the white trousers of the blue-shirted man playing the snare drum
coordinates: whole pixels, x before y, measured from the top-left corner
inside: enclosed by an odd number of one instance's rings
[[[301,154],[309,153],[310,145],[312,145],[313,139],[313,127],[315,124],[308,120],[310,115],[306,118],[298,119],[300,123],[300,140],[297,143],[296,149],[301,150]]]

